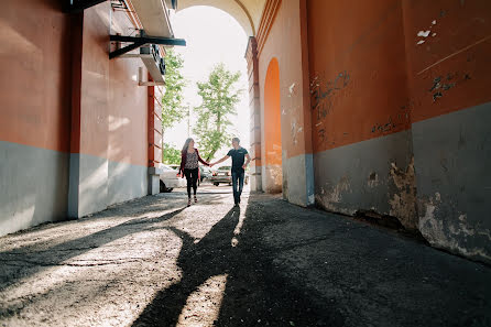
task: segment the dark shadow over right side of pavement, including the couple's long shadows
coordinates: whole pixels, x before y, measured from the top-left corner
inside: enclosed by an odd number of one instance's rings
[[[215,326],[490,326],[490,268],[336,215],[251,195],[198,243],[174,230],[182,280],[133,326],[175,326],[189,295],[228,274]]]

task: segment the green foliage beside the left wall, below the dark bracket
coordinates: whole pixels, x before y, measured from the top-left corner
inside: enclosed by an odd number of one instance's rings
[[[181,69],[184,59],[181,54],[168,48],[165,54],[165,91],[162,96],[162,130],[165,132],[187,115],[183,106],[183,89],[186,86]]]

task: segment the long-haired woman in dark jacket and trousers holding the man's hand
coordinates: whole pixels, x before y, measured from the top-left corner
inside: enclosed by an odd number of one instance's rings
[[[196,185],[199,178],[199,164],[198,161],[203,164],[209,166],[209,163],[204,161],[199,156],[198,149],[195,149],[195,141],[193,139],[187,139],[184,142],[183,151],[181,152],[181,168],[179,174],[182,176],[186,176],[187,181],[187,206],[190,206],[190,188],[193,187],[195,203],[198,201],[196,197],[196,189],[198,186]]]

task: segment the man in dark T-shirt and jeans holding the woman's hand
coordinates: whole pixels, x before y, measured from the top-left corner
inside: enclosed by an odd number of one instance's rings
[[[219,164],[229,159],[230,156],[232,157],[233,201],[236,206],[238,206],[240,204],[240,195],[242,194],[244,172],[248,164],[251,162],[251,157],[249,156],[248,151],[242,146],[240,146],[239,138],[232,139],[232,146],[233,149],[231,149],[226,156],[223,156],[216,163],[212,163],[210,166]]]

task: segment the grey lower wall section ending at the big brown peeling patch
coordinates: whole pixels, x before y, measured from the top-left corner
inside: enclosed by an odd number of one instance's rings
[[[314,176],[316,204],[325,209],[373,210],[417,228],[411,131],[316,153]]]

